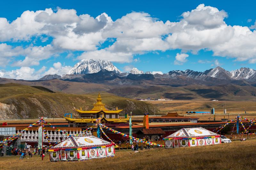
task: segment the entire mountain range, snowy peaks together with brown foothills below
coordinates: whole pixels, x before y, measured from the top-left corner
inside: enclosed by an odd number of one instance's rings
[[[172,70],[152,74],[137,68],[121,72],[109,61],[91,59],[77,63],[69,73],[74,74],[46,75],[31,81],[0,78],[0,84],[19,83],[50,90],[56,86],[55,91],[72,94],[104,91],[127,98],[256,101],[256,71],[250,68],[227,71],[216,67],[204,72]]]

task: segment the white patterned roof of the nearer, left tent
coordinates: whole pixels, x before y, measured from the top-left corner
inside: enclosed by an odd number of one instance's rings
[[[109,144],[111,143],[95,136],[78,136],[78,137],[69,137],[63,142],[55,145],[53,148],[93,147],[93,146],[104,146]]]

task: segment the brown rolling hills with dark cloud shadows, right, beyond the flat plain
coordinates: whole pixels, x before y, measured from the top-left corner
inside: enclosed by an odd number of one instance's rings
[[[108,92],[130,98],[168,98],[171,100],[256,100],[256,88],[239,85],[185,85],[172,86],[129,86],[117,87]]]

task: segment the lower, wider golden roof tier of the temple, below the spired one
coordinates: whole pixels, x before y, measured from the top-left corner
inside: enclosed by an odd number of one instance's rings
[[[63,116],[64,117],[64,116]],[[88,118],[88,119],[83,119],[83,118],[69,118],[69,117],[64,117],[68,122],[74,122],[74,123],[92,123],[92,122],[96,122],[96,119],[92,119],[92,118]],[[100,121],[106,121],[106,122],[120,122],[120,123],[126,123],[127,121],[129,121],[129,117],[128,118],[105,118],[102,117],[100,119]]]

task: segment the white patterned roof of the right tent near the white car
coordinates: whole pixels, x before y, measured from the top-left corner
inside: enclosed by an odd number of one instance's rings
[[[210,130],[199,128],[182,128],[177,132],[169,135],[166,138],[175,138],[175,137],[209,137],[209,136],[219,136],[219,134],[213,133]]]

